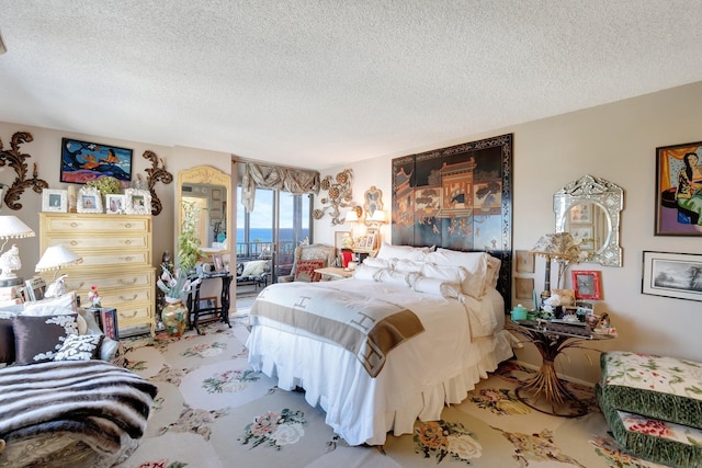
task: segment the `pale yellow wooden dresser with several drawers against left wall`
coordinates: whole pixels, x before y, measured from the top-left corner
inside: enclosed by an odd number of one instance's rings
[[[156,328],[156,277],[151,265],[151,216],[39,213],[41,252],[64,244],[83,262],[61,269],[66,288],[89,306],[88,292],[98,287],[102,307],[117,309],[120,330]],[[44,272],[48,284],[54,272]]]

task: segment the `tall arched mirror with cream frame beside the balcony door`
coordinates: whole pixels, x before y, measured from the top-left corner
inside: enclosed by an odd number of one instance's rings
[[[178,173],[178,226],[183,225],[183,202],[197,208],[196,231],[203,252],[228,253],[231,250],[231,176],[208,165]]]

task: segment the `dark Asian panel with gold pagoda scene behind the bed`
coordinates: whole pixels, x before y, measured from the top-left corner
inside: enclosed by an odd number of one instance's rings
[[[489,252],[509,308],[512,134],[393,159],[393,244]]]

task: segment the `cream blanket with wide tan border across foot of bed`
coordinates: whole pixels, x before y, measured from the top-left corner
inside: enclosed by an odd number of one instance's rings
[[[387,353],[424,331],[415,312],[382,299],[360,297],[314,283],[282,283],[263,289],[251,306],[249,324],[303,331],[352,352],[371,377]]]

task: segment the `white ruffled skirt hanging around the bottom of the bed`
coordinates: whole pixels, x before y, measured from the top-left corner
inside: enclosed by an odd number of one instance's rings
[[[410,434],[417,419],[439,420],[445,404],[462,402],[480,378],[513,355],[510,342],[506,330],[475,340],[466,344],[471,357],[456,374],[437,379],[422,372],[409,381],[412,369],[394,366],[394,351],[372,378],[348,351],[281,330],[253,327],[247,347],[256,370],[278,377],[281,389],[304,388],[307,402],[325,410],[325,422],[349,445],[383,445],[388,432]]]

